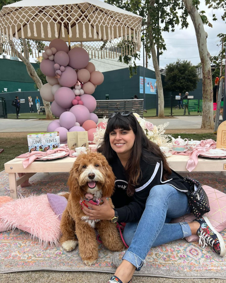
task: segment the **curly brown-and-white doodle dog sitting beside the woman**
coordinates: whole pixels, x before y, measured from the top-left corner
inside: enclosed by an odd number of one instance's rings
[[[63,249],[70,252],[78,244],[80,256],[86,265],[92,265],[98,258],[98,244],[95,228],[97,228],[103,245],[111,251],[122,251],[125,246],[120,238],[116,225],[109,220],[89,220],[83,213],[80,204],[85,194],[93,194],[95,198],[109,197],[114,191],[115,176],[106,158],[97,152],[80,154],[70,170],[68,179],[70,193],[67,207],[61,219],[63,233],[60,243]]]

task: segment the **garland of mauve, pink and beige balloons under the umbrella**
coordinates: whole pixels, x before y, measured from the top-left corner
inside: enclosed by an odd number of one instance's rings
[[[46,83],[40,90],[41,97],[51,104],[54,116],[47,132],[59,131],[60,142],[67,139],[67,132],[94,132],[98,117],[93,111],[97,102],[92,94],[103,83],[103,74],[89,62],[88,53],[81,47],[69,51],[66,42],[56,38],[44,47],[40,64]]]

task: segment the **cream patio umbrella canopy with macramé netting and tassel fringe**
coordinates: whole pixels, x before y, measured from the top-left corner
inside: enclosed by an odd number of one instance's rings
[[[125,54],[140,50],[141,24],[141,16],[98,0],[22,0],[3,6],[0,12],[3,44],[19,38],[33,41],[61,38],[69,44],[102,41],[84,43],[86,49],[99,51],[103,49],[103,41],[111,42],[108,49],[120,47],[118,43],[123,41],[129,49],[121,51]]]

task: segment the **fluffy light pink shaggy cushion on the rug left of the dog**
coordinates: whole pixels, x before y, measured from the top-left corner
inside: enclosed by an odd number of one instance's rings
[[[0,207],[0,226],[21,229],[45,247],[57,245],[61,236],[60,220],[47,196],[30,196],[7,202]]]

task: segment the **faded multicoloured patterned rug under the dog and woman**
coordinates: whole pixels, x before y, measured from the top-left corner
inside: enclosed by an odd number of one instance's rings
[[[203,185],[209,185],[226,193],[226,176],[221,173],[194,172],[192,176]],[[31,187],[18,187],[22,196],[35,193],[58,193],[68,191],[68,173],[38,173],[30,178]],[[0,196],[9,196],[8,176],[0,172]],[[221,233],[226,241],[226,231]],[[141,239],[142,240],[142,239]],[[113,253],[99,244],[99,259],[87,267],[82,263],[78,248],[67,253],[61,247],[41,249],[27,232],[18,229],[0,233],[0,272],[55,270],[55,271],[100,271],[114,272],[123,253]],[[217,256],[210,247],[202,249],[197,242],[177,240],[150,250],[146,266],[136,275],[170,278],[221,278],[226,279],[225,258]]]

